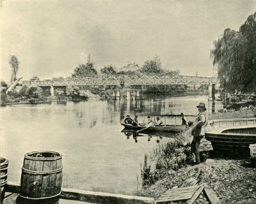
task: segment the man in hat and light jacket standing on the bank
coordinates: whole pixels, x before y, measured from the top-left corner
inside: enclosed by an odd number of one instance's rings
[[[191,134],[193,135],[193,141],[191,143],[191,153],[193,156],[193,163],[199,164],[200,163],[199,145],[200,145],[200,141],[205,135],[205,126],[207,126],[207,117],[205,113],[206,108],[204,103],[199,103],[199,105],[196,107],[199,113],[195,119],[195,124],[191,132]]]

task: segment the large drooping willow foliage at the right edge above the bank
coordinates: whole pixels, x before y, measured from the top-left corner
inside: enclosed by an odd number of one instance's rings
[[[222,91],[256,91],[255,17],[256,12],[241,25],[239,32],[225,29],[223,36],[214,41],[211,57]]]

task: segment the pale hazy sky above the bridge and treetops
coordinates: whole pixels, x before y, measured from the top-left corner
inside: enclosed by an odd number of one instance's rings
[[[256,0],[1,0],[0,78],[12,54],[22,80],[70,77],[88,54],[97,71],[157,55],[164,69],[212,77],[214,40],[255,11]]]

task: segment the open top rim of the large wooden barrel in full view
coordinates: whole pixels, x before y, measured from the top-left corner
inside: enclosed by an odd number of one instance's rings
[[[50,150],[42,150],[35,152],[28,152],[24,156],[26,159],[32,160],[56,160],[61,159],[62,155],[58,152],[50,151]]]

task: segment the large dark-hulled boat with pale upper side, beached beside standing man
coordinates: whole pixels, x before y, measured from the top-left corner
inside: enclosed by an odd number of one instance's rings
[[[209,126],[205,139],[214,150],[249,152],[249,145],[256,143],[256,118],[212,120]]]

